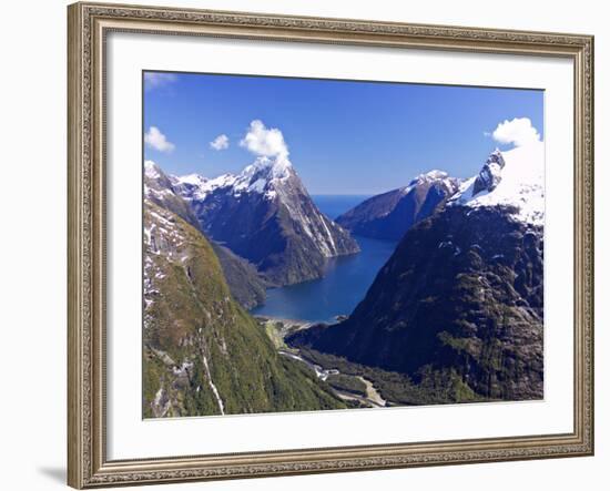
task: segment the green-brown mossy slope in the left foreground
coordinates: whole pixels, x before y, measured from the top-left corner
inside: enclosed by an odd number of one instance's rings
[[[196,228],[146,200],[144,236],[144,417],[345,407],[275,351]]]

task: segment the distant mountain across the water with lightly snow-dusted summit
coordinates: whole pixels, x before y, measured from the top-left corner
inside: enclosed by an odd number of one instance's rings
[[[413,225],[430,216],[458,190],[459,181],[430,171],[407,186],[373,196],[336,222],[356,235],[398,241]]]

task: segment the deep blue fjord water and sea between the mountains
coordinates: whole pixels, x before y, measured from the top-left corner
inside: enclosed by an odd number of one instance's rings
[[[366,197],[366,196],[365,196]],[[363,201],[363,196],[313,196],[318,208],[335,217]],[[392,241],[354,236],[360,253],[329,259],[321,279],[267,290],[264,305],[251,310],[254,315],[332,321],[349,315],[364,298],[375,276],[396,247]]]

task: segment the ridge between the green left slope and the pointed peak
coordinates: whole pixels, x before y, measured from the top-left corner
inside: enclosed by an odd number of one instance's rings
[[[144,163],[144,197],[175,213],[195,228],[200,228],[199,219],[191,209],[190,203],[176,193],[175,185],[181,184],[167,177],[154,162]],[[221,262],[233,297],[245,308],[264,303],[265,283],[260,278],[256,268],[226,247],[214,242],[212,246]]]

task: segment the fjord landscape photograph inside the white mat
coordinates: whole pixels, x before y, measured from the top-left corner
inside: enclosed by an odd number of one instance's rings
[[[142,149],[144,419],[545,400],[543,90],[144,70]]]

